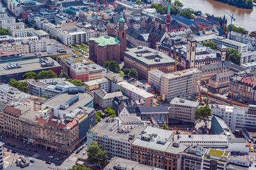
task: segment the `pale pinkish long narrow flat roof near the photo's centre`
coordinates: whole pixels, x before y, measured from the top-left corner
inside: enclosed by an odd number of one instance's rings
[[[154,97],[153,94],[150,94],[150,93],[146,92],[145,90],[140,89],[140,88],[128,83],[127,81],[121,81],[117,84],[120,85],[120,87],[123,87],[131,92],[134,92],[135,94],[138,94],[141,97],[144,97],[144,98]]]

